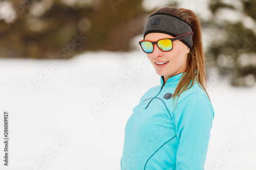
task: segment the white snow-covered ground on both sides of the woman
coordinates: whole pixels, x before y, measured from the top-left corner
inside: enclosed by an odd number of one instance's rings
[[[125,123],[160,76],[142,52],[85,53],[56,63],[0,60],[1,141],[4,111],[10,114],[9,166],[3,165],[1,142],[0,168],[120,169]],[[40,76],[45,80],[37,80],[30,92],[27,84]],[[213,74],[208,78],[215,118],[205,169],[255,170],[256,87],[231,87]],[[111,94],[114,87],[120,88]],[[99,102],[105,106],[94,111]]]

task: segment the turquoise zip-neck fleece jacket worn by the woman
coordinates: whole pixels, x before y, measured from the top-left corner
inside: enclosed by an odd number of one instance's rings
[[[148,89],[133,108],[125,125],[122,170],[204,169],[214,108],[196,81],[174,110],[172,96],[181,76],[165,84],[161,76],[161,85]]]

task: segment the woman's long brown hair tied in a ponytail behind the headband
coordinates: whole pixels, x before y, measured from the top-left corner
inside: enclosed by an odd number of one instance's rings
[[[202,86],[200,88],[206,92],[209,98],[209,95],[206,91],[206,86],[207,86],[206,74],[205,74],[206,58],[204,55],[204,48],[203,48],[202,35],[201,35],[202,26],[199,18],[193,11],[184,9],[184,8],[164,7],[156,10],[155,12],[153,12],[153,14],[154,13],[168,13],[168,14],[178,16],[183,20],[187,21],[191,25],[194,32],[193,46],[187,55],[186,70],[183,72],[182,79],[180,79],[179,84],[175,89],[173,98],[175,99],[178,96],[178,99],[179,99],[179,96],[182,92],[191,88],[194,85],[195,80],[199,83],[199,87],[200,85]],[[192,83],[188,87],[191,80],[192,80]],[[178,99],[176,101],[176,106],[177,106]]]

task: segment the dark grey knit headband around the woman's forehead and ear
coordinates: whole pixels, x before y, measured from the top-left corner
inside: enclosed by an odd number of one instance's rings
[[[176,37],[190,32],[193,32],[193,30],[187,21],[175,15],[155,13],[146,22],[143,38],[145,39],[146,34],[149,33],[164,33]],[[193,45],[192,35],[187,35],[180,41],[186,44],[191,50]]]

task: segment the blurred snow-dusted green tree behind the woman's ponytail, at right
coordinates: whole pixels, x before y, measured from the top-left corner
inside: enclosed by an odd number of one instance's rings
[[[223,2],[209,5],[214,15],[206,22],[211,39],[207,55],[215,57],[220,76],[232,76],[232,85],[252,86],[256,76],[256,1]]]

